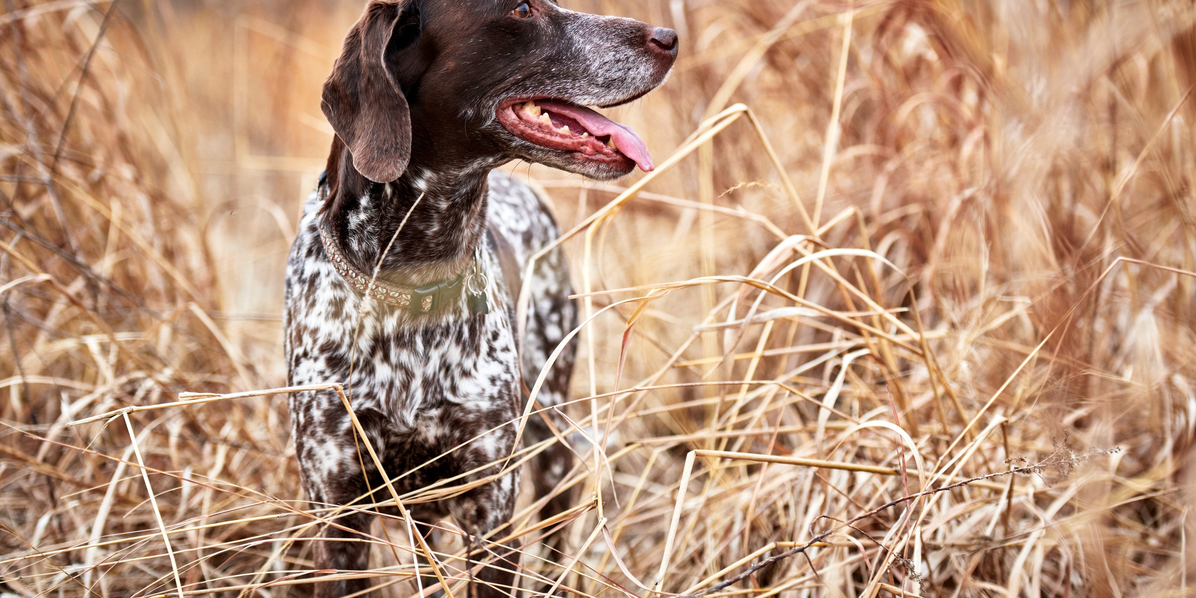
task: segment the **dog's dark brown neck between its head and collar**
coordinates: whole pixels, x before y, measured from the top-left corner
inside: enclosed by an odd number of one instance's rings
[[[486,231],[487,176],[496,165],[483,160],[431,167],[413,155],[401,178],[374,183],[353,167],[337,139],[327,171],[323,226],[362,273],[373,274],[391,245],[379,277],[410,286],[454,277],[471,263]]]

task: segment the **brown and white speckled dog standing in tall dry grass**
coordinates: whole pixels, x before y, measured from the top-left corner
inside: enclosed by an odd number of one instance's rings
[[[323,93],[336,139],[287,266],[286,359],[292,385],[344,384],[399,493],[511,454],[515,425],[504,423],[521,413],[521,384],[535,383],[576,322],[556,250],[524,273],[530,307],[517,343],[508,294],[517,281],[504,276],[501,254],[524,264],[559,230],[526,185],[493,169],[525,159],[599,179],[651,170],[630,128],[586,106],[647,93],[676,55],[672,30],[550,0],[372,1],[349,31]],[[572,347],[562,352],[539,403],[563,401],[573,359]],[[295,393],[289,407],[315,506],[390,498],[372,459],[359,457],[335,393]],[[543,419],[527,422],[531,441],[550,435]],[[541,453],[537,493],[557,486],[570,462],[561,445]],[[409,508],[421,532],[452,515],[486,535],[511,517],[518,486],[513,471]],[[562,494],[541,515],[567,504]],[[316,543],[316,568],[366,569],[370,544],[344,539],[368,533],[372,521],[343,511],[323,531],[329,541]],[[499,556],[505,562],[492,560],[477,578],[482,596],[507,596],[514,585],[518,554]],[[366,579],[329,581],[316,596],[368,587]]]

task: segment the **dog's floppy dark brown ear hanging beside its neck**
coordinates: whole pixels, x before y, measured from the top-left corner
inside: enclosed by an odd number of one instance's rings
[[[346,36],[319,103],[353,154],[353,166],[376,183],[397,179],[411,158],[410,110],[386,65],[388,55],[419,36],[419,14],[410,5],[370,2]]]

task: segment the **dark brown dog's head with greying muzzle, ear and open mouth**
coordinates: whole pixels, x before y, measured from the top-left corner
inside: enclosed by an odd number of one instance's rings
[[[374,0],[344,41],[322,108],[374,182],[413,161],[515,158],[592,178],[652,169],[614,106],[660,85],[677,35],[551,0]],[[334,157],[335,158],[335,157]]]

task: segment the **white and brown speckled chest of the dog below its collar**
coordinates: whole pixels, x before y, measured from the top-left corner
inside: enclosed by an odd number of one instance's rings
[[[309,202],[287,267],[286,344],[292,384],[344,384],[354,410],[377,410],[393,432],[437,435],[451,427],[441,413],[513,416],[518,409],[517,348],[507,319],[501,268],[482,252],[490,311],[472,316],[458,297],[434,315],[364,299],[332,268],[323,250],[313,202]],[[329,393],[305,393],[295,416],[347,419]],[[422,423],[421,423],[422,422]],[[295,422],[305,425],[316,421]],[[494,425],[501,423],[495,421]]]

